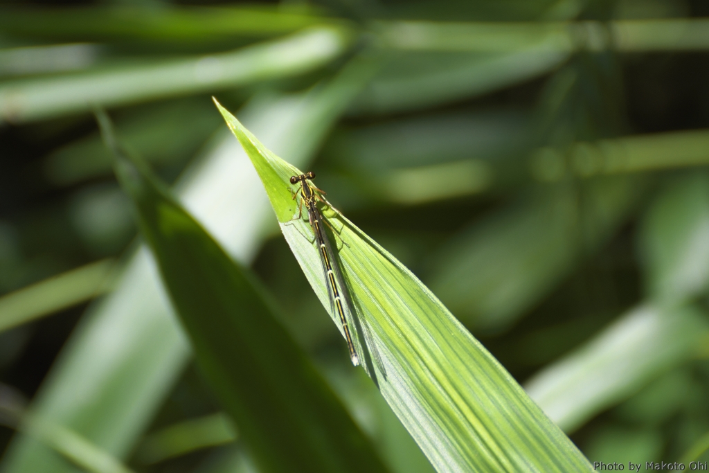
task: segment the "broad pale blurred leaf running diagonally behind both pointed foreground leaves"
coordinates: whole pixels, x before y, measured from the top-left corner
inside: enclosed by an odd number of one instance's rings
[[[342,79],[306,93],[258,96],[241,113],[267,143],[306,162],[361,87],[357,74]],[[271,212],[253,167],[228,130],[201,158],[180,179],[180,197],[230,254],[249,261]],[[239,205],[246,198],[251,205]],[[167,306],[155,264],[141,248],[129,257],[116,290],[84,314],[33,399],[33,411],[125,457],[188,357],[189,346]],[[26,435],[16,435],[2,467],[11,473],[72,471]]]

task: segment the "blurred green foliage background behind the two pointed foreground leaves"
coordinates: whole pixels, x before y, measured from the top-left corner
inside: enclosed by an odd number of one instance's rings
[[[139,249],[96,104],[251,265],[392,471],[432,471],[211,96],[591,462],[709,461],[707,52],[702,0],[0,1],[0,471],[79,468],[15,435],[27,403],[102,471],[255,471]]]

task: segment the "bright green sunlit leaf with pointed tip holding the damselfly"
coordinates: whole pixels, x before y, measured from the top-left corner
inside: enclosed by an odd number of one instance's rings
[[[296,189],[289,177],[301,172],[219,109],[262,178],[303,272],[329,308],[318,251],[306,236],[311,229],[301,219],[292,221]],[[338,241],[347,243],[338,245],[338,260],[357,307],[353,325],[363,365],[438,471],[591,469],[574,444],[408,269],[333,208],[323,211]]]

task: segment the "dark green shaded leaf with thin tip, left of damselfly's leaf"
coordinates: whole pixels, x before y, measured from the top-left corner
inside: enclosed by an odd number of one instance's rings
[[[111,143],[107,117],[102,132]],[[143,162],[113,143],[116,174],[197,365],[264,472],[386,472],[267,294],[182,209]],[[278,445],[274,448],[274,445]]]

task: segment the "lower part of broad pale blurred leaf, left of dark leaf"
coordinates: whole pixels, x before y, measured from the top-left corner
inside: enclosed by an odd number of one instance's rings
[[[118,458],[134,445],[188,355],[157,281],[154,263],[139,250],[116,290],[84,314],[31,406]],[[16,435],[6,451],[4,472],[74,472],[28,435]]]

